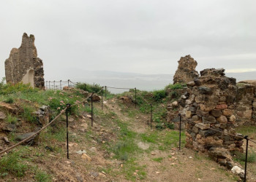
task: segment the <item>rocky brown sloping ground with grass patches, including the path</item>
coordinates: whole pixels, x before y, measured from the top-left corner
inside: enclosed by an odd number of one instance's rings
[[[37,145],[14,150],[21,151],[26,174],[1,174],[1,181],[239,181],[206,154],[186,149],[184,133],[179,151],[178,132],[151,130],[150,115],[134,106],[110,98],[103,111],[100,103],[95,107],[93,127],[89,112],[69,117],[69,159],[63,116],[39,135]],[[255,163],[248,166],[248,181],[256,180],[254,167]],[[38,170],[48,177],[39,178]]]

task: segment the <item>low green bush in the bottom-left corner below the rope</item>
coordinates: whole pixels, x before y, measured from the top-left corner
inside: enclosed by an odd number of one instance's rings
[[[17,177],[25,175],[25,171],[28,167],[20,161],[20,151],[2,157],[0,159],[0,175],[3,176],[9,173]]]

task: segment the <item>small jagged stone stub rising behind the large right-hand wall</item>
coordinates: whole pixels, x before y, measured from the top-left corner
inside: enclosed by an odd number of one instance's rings
[[[196,79],[199,75],[197,71],[195,71],[195,67],[197,67],[197,61],[191,58],[190,55],[181,57],[181,59],[178,60],[178,69],[173,76],[173,84],[187,83]]]

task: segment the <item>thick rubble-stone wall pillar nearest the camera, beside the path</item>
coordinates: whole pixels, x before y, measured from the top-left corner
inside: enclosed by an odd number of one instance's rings
[[[227,157],[229,151],[243,151],[243,141],[234,129],[236,79],[224,72],[214,68],[200,71],[200,78],[187,84],[189,98],[183,112],[187,118],[187,147],[208,151],[226,165],[231,159]],[[225,152],[221,155],[219,151]]]

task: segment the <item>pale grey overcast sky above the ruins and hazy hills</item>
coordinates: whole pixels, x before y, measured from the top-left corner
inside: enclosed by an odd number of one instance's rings
[[[0,76],[24,32],[36,38],[46,80],[76,69],[174,74],[185,55],[197,71],[256,71],[255,7],[255,0],[1,0]]]

